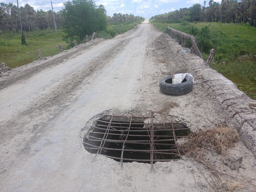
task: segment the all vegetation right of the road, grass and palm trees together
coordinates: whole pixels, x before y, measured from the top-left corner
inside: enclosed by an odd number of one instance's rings
[[[205,60],[216,48],[210,66],[256,99],[255,10],[256,0],[210,0],[208,6],[204,1],[203,6],[156,15],[150,22],[165,33],[172,27],[193,35]]]

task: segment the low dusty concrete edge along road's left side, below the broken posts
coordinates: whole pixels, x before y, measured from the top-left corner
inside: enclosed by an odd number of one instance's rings
[[[0,89],[3,89],[17,80],[21,80],[32,73],[36,73],[45,69],[49,66],[57,65],[58,63],[63,62],[66,59],[71,59],[76,57],[79,54],[82,54],[84,50],[87,48],[97,45],[105,41],[104,39],[97,38],[93,41],[90,41],[86,44],[80,44],[76,47],[70,48],[68,50],[64,50],[62,53],[43,57],[42,60],[34,60],[32,63],[28,63],[26,65],[22,65],[20,67],[13,68],[11,71],[8,71],[8,74],[0,77]]]

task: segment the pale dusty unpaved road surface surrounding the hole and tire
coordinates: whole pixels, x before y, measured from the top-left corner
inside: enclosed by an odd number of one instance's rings
[[[37,63],[33,73],[2,88],[0,191],[212,191],[201,174],[207,176],[207,171],[191,159],[157,162],[154,170],[137,162],[124,163],[121,169],[119,162],[101,155],[91,162],[94,154],[81,143],[89,131],[86,122],[97,114],[157,111],[168,101],[178,104],[170,115],[192,131],[212,128],[212,122],[235,127],[236,115],[217,102],[199,70],[190,68],[203,61],[191,54],[193,64],[181,63],[173,54],[180,49],[150,23],[142,23],[112,40],[95,40],[59,63]],[[193,91],[179,97],[162,94],[159,80],[178,72],[192,73]],[[226,89],[242,94],[231,81],[218,78],[226,82]],[[221,89],[226,90],[216,91]],[[254,103],[247,97],[243,101]],[[234,172],[255,178],[251,151],[239,142],[232,152],[244,157],[245,169]]]

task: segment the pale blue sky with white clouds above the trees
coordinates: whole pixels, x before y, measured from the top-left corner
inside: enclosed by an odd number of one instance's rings
[[[113,13],[128,13],[133,15],[143,16],[146,19],[154,15],[168,13],[184,7],[191,7],[195,3],[203,5],[204,0],[96,0],[97,5],[104,5],[107,14],[110,16]],[[206,4],[208,4],[206,1]],[[215,0],[221,2],[221,0]],[[16,4],[15,0],[0,0],[0,2],[12,2]],[[63,0],[52,0],[54,11],[59,11],[63,8]],[[30,4],[35,10],[43,9],[47,11],[51,9],[51,0],[19,0],[19,5]]]

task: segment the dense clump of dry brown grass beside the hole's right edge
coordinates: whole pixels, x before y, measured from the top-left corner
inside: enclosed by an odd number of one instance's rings
[[[224,126],[217,126],[206,131],[190,133],[180,147],[185,155],[195,159],[202,159],[205,150],[213,149],[221,154],[222,158],[226,150],[238,141],[235,130]]]

